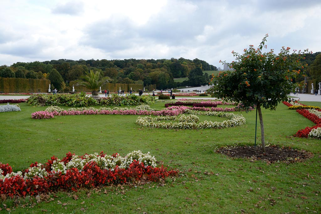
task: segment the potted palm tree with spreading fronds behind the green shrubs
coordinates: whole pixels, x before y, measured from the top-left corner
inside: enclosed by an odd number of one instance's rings
[[[89,73],[86,72],[85,76],[81,76],[82,80],[77,81],[76,85],[81,85],[91,90],[91,94],[93,96],[98,95],[99,88],[109,82],[111,79],[109,77],[100,76],[101,70],[93,71],[91,70]]]

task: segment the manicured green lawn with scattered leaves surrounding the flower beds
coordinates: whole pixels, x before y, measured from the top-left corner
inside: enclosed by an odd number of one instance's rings
[[[302,103],[321,107],[321,102]],[[31,113],[46,107],[19,105],[21,112],[0,113],[3,122],[0,162],[9,163],[14,171],[35,161],[44,163],[53,155],[62,158],[69,151],[77,155],[102,150],[110,155],[114,152],[125,155],[142,150],[182,173],[175,180],[168,179],[166,185],[150,183],[59,192],[52,197],[53,201],[35,204],[33,208],[16,207],[11,213],[321,212],[320,140],[292,137],[299,129],[314,124],[282,103],[276,111],[263,110],[266,145],[313,152],[314,157],[305,162],[267,164],[232,159],[215,152],[226,145],[254,145],[255,111],[235,112],[245,116],[247,123],[233,128],[164,130],[137,126],[137,116],[56,116],[34,120]],[[164,103],[156,102],[151,107],[162,109]],[[215,117],[208,120],[214,121]],[[260,139],[258,128],[256,143],[260,144]],[[10,206],[14,201],[6,200],[5,204]]]

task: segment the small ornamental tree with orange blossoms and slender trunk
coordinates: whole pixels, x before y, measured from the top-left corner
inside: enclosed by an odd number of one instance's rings
[[[250,45],[241,55],[232,51],[235,61],[230,63],[234,71],[220,72],[212,75],[212,97],[227,98],[241,103],[245,108],[256,107],[261,125],[262,152],[265,153],[264,124],[261,107],[275,110],[278,103],[288,100],[288,94],[295,90],[297,84],[292,81],[303,69],[300,59],[304,57],[304,50],[290,55],[290,47],[282,47],[279,54],[273,49],[262,52],[266,38],[258,48]],[[225,64],[225,61],[220,61]]]

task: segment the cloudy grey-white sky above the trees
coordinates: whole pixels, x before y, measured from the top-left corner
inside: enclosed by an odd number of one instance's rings
[[[320,0],[1,0],[0,65],[202,59],[257,45],[321,51]]]

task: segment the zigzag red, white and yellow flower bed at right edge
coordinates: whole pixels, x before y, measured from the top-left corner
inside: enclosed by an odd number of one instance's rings
[[[296,112],[298,112],[300,115],[304,116],[305,118],[311,120],[313,123],[315,123],[315,126],[312,127],[306,127],[304,129],[299,130],[296,134],[294,134],[295,137],[301,137],[301,138],[321,138],[321,110],[320,108],[310,108],[310,106],[306,106],[303,104],[300,104],[298,102],[283,102],[284,105],[288,106],[289,109],[297,109]],[[296,108],[293,108],[292,106],[296,106]],[[302,106],[302,107],[300,107]],[[304,107],[307,107],[306,109]]]

